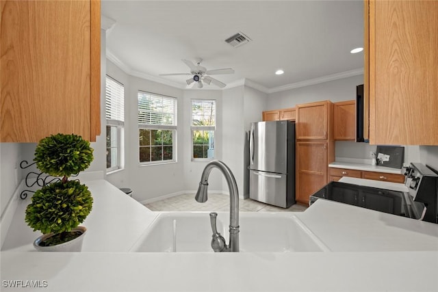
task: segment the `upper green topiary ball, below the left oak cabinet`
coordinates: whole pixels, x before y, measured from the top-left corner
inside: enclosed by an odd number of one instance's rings
[[[35,149],[36,167],[51,176],[70,176],[86,170],[93,148],[81,136],[56,134],[40,140]]]

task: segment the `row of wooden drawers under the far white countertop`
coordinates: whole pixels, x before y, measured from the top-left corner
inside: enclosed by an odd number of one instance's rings
[[[404,183],[404,175],[385,172],[369,172],[365,170],[349,170],[347,168],[329,168],[329,180],[339,181],[342,176],[366,178],[374,181],[388,181],[390,183]]]

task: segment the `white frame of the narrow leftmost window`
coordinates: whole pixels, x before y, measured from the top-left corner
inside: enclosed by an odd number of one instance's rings
[[[112,119],[112,118],[108,118],[107,117],[107,79],[111,79],[114,83],[120,85],[123,88],[123,95],[121,96],[121,109],[122,109],[122,117],[123,120],[118,120],[118,119]],[[116,101],[117,102],[117,101]],[[118,115],[116,115],[118,116]],[[120,116],[119,116],[120,118]],[[110,75],[105,75],[105,121],[106,121],[106,127],[105,127],[105,149],[108,149],[107,144],[106,144],[106,139],[107,139],[107,127],[110,127],[110,131],[111,128],[116,128],[116,165],[110,167],[110,168],[106,168],[106,172],[107,174],[110,174],[111,172],[115,172],[117,170],[123,170],[124,166],[123,166],[123,161],[124,161],[124,155],[125,152],[123,150],[123,142],[124,142],[124,135],[125,135],[125,85],[123,83],[121,83],[120,81],[118,81],[117,79],[111,77]],[[110,148],[113,148],[110,146]]]

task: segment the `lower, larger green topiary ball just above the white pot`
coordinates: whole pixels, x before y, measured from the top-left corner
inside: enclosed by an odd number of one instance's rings
[[[51,183],[38,189],[26,208],[25,222],[43,234],[69,232],[90,213],[93,198],[79,181]]]

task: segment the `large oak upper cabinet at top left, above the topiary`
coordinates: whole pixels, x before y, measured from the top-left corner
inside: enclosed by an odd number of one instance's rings
[[[100,1],[0,2],[0,142],[100,134]]]

